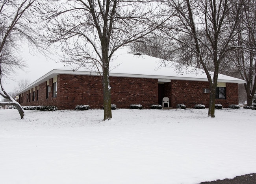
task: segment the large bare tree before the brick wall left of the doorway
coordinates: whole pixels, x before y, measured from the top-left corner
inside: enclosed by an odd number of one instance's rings
[[[109,61],[114,52],[152,33],[167,18],[149,0],[49,0],[40,9],[47,21],[43,37],[61,45],[62,61],[102,74],[104,120],[110,120]]]

